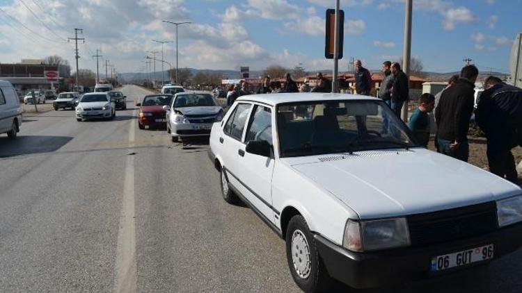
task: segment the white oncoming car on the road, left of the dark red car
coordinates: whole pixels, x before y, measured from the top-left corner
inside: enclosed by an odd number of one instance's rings
[[[116,107],[114,100],[106,92],[90,92],[81,97],[76,107],[77,121],[103,118],[114,119]]]

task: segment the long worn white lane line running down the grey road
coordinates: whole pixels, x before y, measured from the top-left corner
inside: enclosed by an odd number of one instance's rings
[[[136,117],[136,110],[132,113]],[[129,148],[134,143],[136,120],[129,124]],[[130,150],[129,150],[130,152]],[[134,156],[127,156],[123,185],[122,210],[116,246],[116,266],[113,292],[137,291],[136,225],[134,219]]]

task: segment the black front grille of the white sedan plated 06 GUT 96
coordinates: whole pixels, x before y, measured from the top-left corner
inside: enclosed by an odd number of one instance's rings
[[[407,217],[411,246],[484,235],[498,228],[496,203],[481,203]]]

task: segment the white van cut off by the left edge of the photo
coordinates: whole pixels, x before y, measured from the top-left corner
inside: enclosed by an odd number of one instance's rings
[[[15,88],[8,81],[0,81],[0,134],[15,139],[22,125],[22,107]]]

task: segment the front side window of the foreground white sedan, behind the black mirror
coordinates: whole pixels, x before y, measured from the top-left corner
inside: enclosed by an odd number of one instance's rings
[[[255,105],[253,117],[251,118],[248,131],[246,131],[246,142],[251,140],[266,140],[272,144],[272,114],[271,109],[264,106]]]

